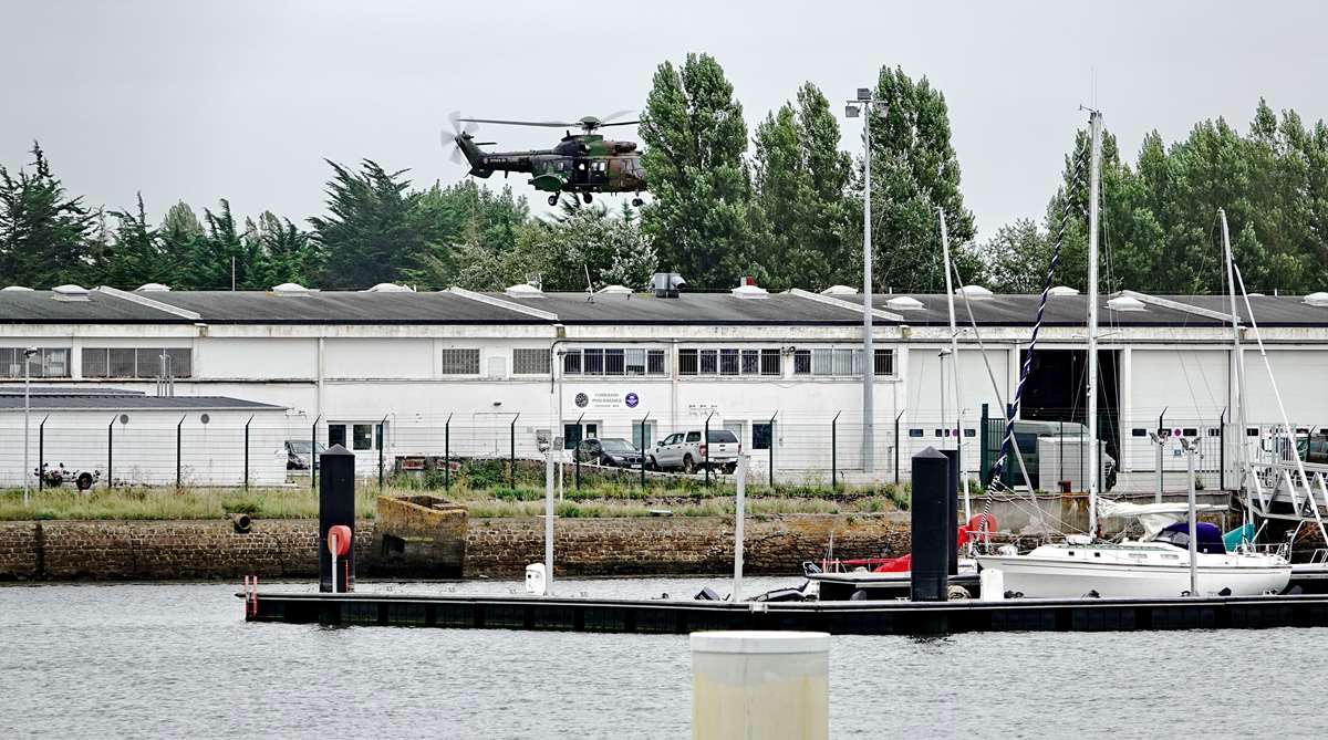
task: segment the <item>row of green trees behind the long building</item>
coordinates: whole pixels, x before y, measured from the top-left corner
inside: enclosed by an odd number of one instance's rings
[[[976,241],[960,190],[944,95],[926,78],[883,68],[872,115],[872,248],[878,290],[944,285],[938,212],[960,273],[1000,292],[1041,289],[1066,219],[1057,282],[1082,288],[1086,269],[1088,138],[1076,137],[1064,183],[1038,219]],[[364,288],[493,289],[539,276],[548,289],[587,280],[644,286],[656,269],[693,289],[740,275],[773,289],[861,282],[862,167],[839,149],[829,99],[805,84],[749,133],[742,106],[708,54],[664,62],[641,111],[651,202],[636,210],[564,199],[535,217],[510,188],[463,180],[417,188],[376,162],[329,162],[327,212],[292,221],[236,219],[226,200],[199,215],[186,203],[159,221],[133,208],[70,196],[39,146],[32,162],[0,166],[0,281],[134,288],[266,289],[293,281]],[[1224,271],[1216,210],[1224,208],[1251,290],[1301,293],[1328,285],[1328,127],[1263,101],[1244,134],[1222,119],[1167,146],[1145,138],[1134,163],[1104,142],[1105,289],[1219,292]]]

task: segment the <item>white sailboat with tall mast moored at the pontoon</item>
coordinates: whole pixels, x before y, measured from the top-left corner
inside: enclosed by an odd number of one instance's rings
[[[1092,111],[1089,123],[1092,155],[1089,170],[1086,393],[1089,532],[1093,533],[1097,532],[1100,516],[1096,381],[1102,114]],[[1032,347],[1029,354],[1032,354]],[[1193,479],[1191,475],[1191,485]],[[983,570],[1000,572],[999,577],[989,577],[987,582],[993,585],[1000,582],[1000,587],[1005,593],[1033,598],[1080,598],[1085,595],[1175,598],[1203,594],[1259,595],[1279,593],[1291,578],[1291,565],[1280,554],[1254,552],[1246,545],[1238,546],[1236,552],[1227,552],[1220,533],[1212,536],[1215,528],[1197,521],[1201,508],[1194,504],[1193,488],[1186,507],[1170,504],[1139,507],[1104,500],[1102,508],[1102,513],[1108,516],[1139,519],[1145,525],[1145,537],[1138,541],[1102,542],[1094,540],[1092,534],[1069,536],[1064,542],[1041,545],[1027,554],[1019,554],[1012,545],[1004,545],[996,554],[977,556],[979,566]],[[1187,525],[1181,524],[1182,515],[1187,515]]]

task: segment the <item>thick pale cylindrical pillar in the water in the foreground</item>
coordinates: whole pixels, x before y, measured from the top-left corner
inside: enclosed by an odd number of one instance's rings
[[[692,633],[692,737],[830,737],[829,676],[826,633]]]

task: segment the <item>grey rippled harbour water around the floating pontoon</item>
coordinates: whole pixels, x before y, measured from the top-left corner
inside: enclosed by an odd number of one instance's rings
[[[691,598],[704,585],[728,590],[718,578],[560,580],[558,590]],[[0,737],[689,736],[685,637],[246,623],[236,590],[0,587]],[[1323,737],[1328,717],[1303,687],[1328,676],[1325,639],[1295,629],[835,637],[831,736]]]

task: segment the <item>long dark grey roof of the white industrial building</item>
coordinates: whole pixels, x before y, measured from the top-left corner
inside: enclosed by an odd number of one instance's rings
[[[207,324],[258,325],[547,325],[552,320],[529,316],[502,302],[529,306],[555,314],[563,324],[582,325],[769,325],[769,326],[851,326],[862,321],[861,312],[807,300],[790,293],[770,293],[761,300],[742,300],[725,293],[687,293],[677,298],[651,294],[596,296],[586,293],[544,293],[539,298],[514,298],[485,293],[498,305],[448,292],[363,292],[327,290],[299,297],[267,292],[169,292],[153,293],[153,300],[197,312]],[[903,294],[876,294],[872,305],[903,316],[910,325],[946,325],[946,296],[910,293],[922,304],[916,310],[899,310],[887,301]],[[1223,296],[1159,296],[1215,312],[1226,310]],[[845,304],[862,302],[861,296],[835,296]],[[1149,304],[1145,310],[1114,312],[1109,296],[1101,297],[1104,326],[1214,326],[1220,320],[1179,308]],[[1086,297],[1053,296],[1046,306],[1050,326],[1082,326]],[[995,294],[972,300],[977,324],[985,326],[1031,326],[1037,314],[1037,294]],[[1260,325],[1328,326],[1328,308],[1311,306],[1297,296],[1256,296],[1250,298]],[[1244,314],[1243,304],[1240,309]],[[968,308],[956,301],[956,320],[968,324]],[[88,301],[57,301],[49,290],[0,292],[0,324],[190,324],[190,320],[151,306],[138,305],[105,293],[92,292]],[[879,325],[892,324],[876,318]]]

